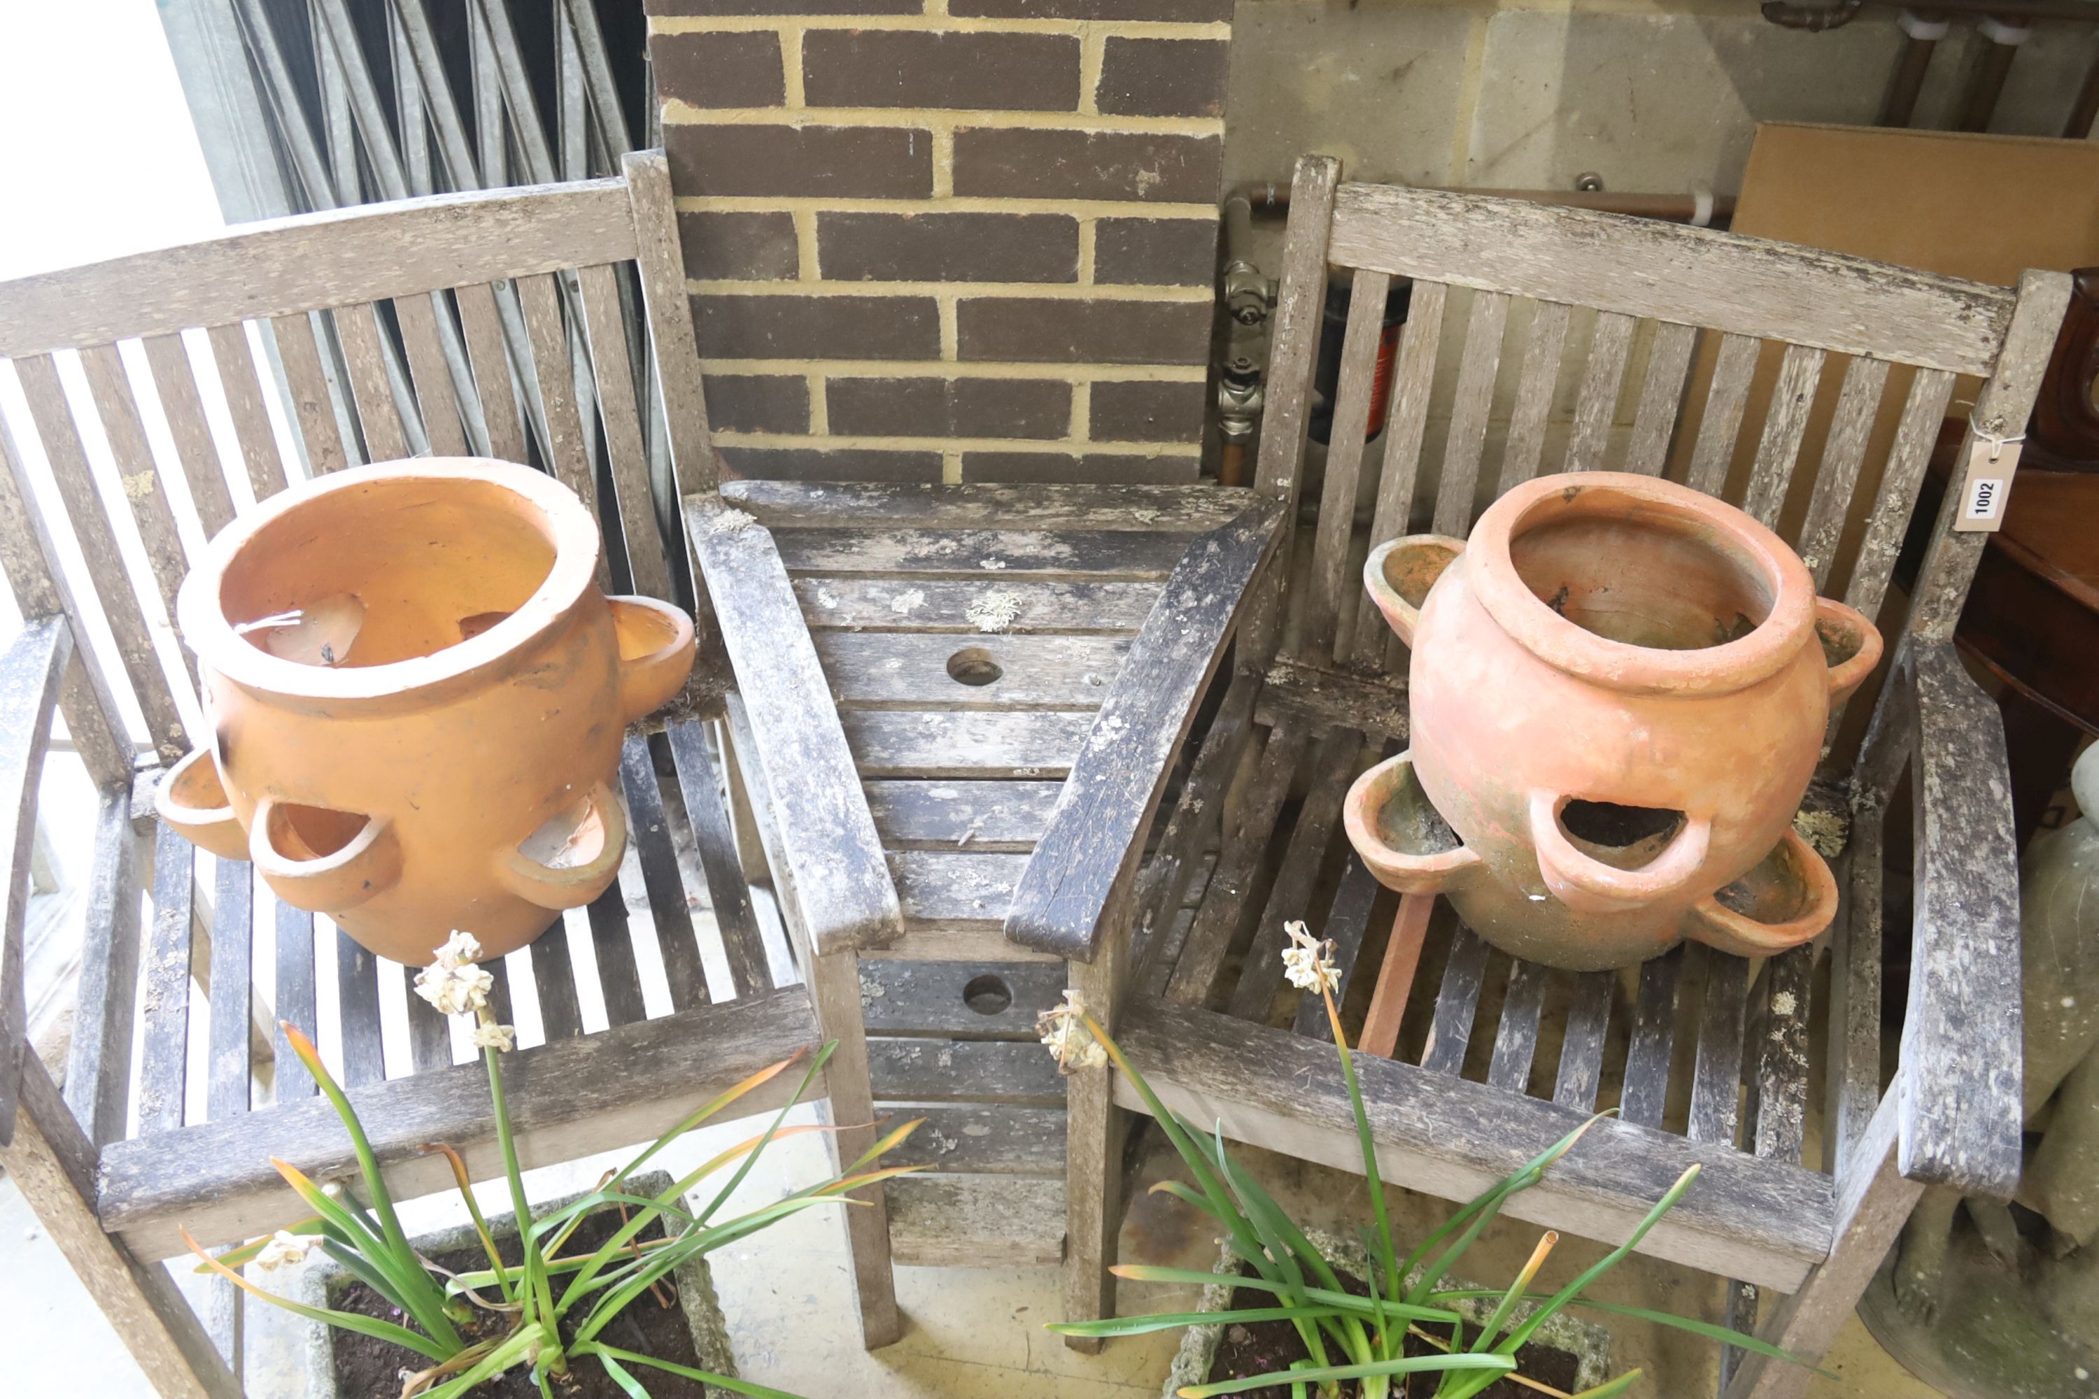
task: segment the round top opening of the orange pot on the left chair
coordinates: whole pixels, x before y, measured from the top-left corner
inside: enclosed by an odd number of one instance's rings
[[[523,608],[554,554],[552,520],[497,482],[382,478],[262,524],[227,562],[218,604],[273,657],[393,665]]]

